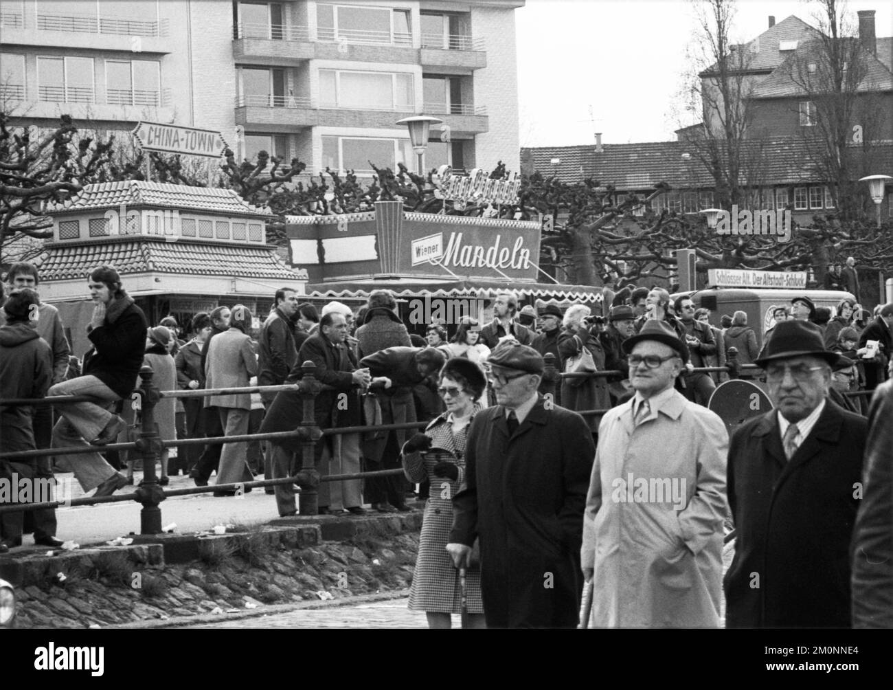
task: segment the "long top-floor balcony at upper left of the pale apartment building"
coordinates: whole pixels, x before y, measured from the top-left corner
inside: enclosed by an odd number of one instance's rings
[[[25,21],[27,20],[27,21]],[[169,22],[138,21],[121,16],[95,14],[0,13],[0,29],[7,46],[89,48],[132,52],[135,41],[142,53],[171,53]],[[96,35],[102,35],[97,40]],[[137,38],[135,38],[137,37]]]

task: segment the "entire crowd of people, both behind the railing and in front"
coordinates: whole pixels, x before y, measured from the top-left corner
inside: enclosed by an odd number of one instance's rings
[[[351,428],[315,443],[319,474],[403,469],[322,482],[319,512],[426,500],[409,605],[430,627],[448,627],[462,599],[473,627],[574,627],[586,587],[601,627],[716,627],[723,588],[727,627],[893,626],[893,303],[872,320],[854,299],[831,312],[804,295],[774,308],[758,338],[763,324],[745,312],[717,327],[693,299],[661,288],[626,290],[605,316],[583,304],[520,307],[506,292],[488,323],[464,316],[422,336],[388,290],[356,312],[332,301],[318,313],[283,287],[260,329],[245,305],[221,306],[194,316],[182,341],[176,321],[150,326],[118,273],[99,266],[88,281],[92,347],[76,367],[38,282],[29,264],[7,277],[0,397],[91,401],[54,405],[54,425],[50,406],[4,406],[4,450],[93,450],[2,461],[6,472],[51,477],[55,466],[110,495],[132,482],[134,461],[102,447],[139,424],[129,403],[140,367],[162,390],[211,391],[295,383],[311,361],[325,384],[315,424]],[[739,374],[764,383],[773,409],[730,437],[706,405]],[[859,389],[878,389],[870,408],[868,396],[844,395]],[[165,439],[294,431],[303,401],[215,392],[163,398],[155,417]],[[424,431],[376,428],[414,422]],[[221,497],[305,465],[295,437],[160,459],[163,484],[182,471],[207,485],[216,473]],[[296,514],[294,484],[268,492],[280,516]],[[4,514],[0,549],[27,531],[61,543],[54,511],[34,511],[29,525],[23,515]],[[729,520],[736,551],[723,582]]]

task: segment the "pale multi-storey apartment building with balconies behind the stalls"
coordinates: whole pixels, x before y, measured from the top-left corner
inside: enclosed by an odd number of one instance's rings
[[[0,106],[50,127],[220,130],[310,172],[415,167],[396,122],[438,117],[425,168],[519,169],[516,0],[2,0]]]

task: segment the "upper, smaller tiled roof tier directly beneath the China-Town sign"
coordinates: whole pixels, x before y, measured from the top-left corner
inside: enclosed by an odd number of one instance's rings
[[[94,208],[118,208],[121,204],[229,215],[271,215],[269,208],[252,206],[232,189],[188,187],[139,180],[88,184],[64,204],[50,206],[48,212],[61,214]]]

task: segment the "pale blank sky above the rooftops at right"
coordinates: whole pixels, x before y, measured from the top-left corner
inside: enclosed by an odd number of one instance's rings
[[[893,3],[849,0],[875,10],[877,36],[893,35]],[[739,0],[731,37],[752,40],[791,14],[816,26],[809,0]],[[515,11],[522,147],[669,141],[694,123],[677,96],[697,27],[689,0],[527,0]],[[674,107],[677,104],[677,107]],[[591,110],[591,113],[590,113]]]

